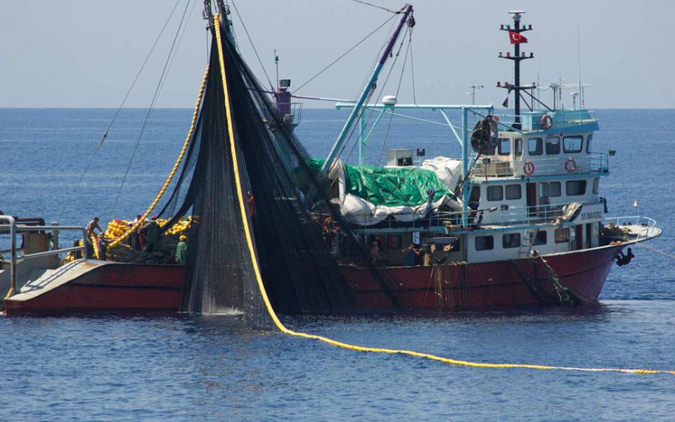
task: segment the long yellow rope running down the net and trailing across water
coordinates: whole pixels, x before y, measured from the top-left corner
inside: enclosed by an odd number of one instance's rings
[[[257,257],[255,255],[255,248],[253,247],[253,241],[252,241],[252,236],[250,232],[250,228],[248,226],[248,217],[246,216],[246,207],[244,204],[243,200],[243,190],[241,188],[241,180],[239,177],[239,165],[237,162],[237,153],[236,153],[236,147],[234,143],[234,135],[233,135],[233,125],[232,125],[232,116],[230,113],[230,101],[229,101],[229,94],[228,94],[228,89],[227,89],[227,80],[225,77],[225,64],[223,60],[223,49],[222,49],[222,41],[220,37],[220,21],[219,21],[219,15],[216,14],[214,16],[214,25],[216,28],[216,42],[218,43],[218,59],[220,62],[220,74],[223,79],[223,95],[225,97],[225,115],[226,115],[226,121],[227,121],[227,129],[228,129],[228,134],[229,134],[229,143],[230,143],[230,151],[232,155],[232,167],[233,167],[233,174],[234,174],[234,179],[235,179],[235,184],[237,188],[237,196],[239,199],[239,211],[240,211],[240,216],[243,222],[244,226],[244,234],[246,237],[246,243],[248,245],[248,250],[249,250],[249,255],[251,257],[251,263],[253,266],[253,271],[255,272],[255,278],[258,284],[258,288],[260,290],[260,294],[262,295],[262,299],[265,303],[265,307],[267,309],[267,312],[269,313],[269,316],[271,317],[272,321],[274,321],[274,324],[276,327],[281,331],[282,333],[288,334],[288,335],[294,335],[296,337],[303,337],[303,338],[310,338],[312,340],[319,340],[324,343],[328,343],[333,346],[337,347],[342,347],[345,349],[349,350],[357,350],[359,352],[375,352],[375,353],[388,353],[388,354],[406,354],[408,356],[414,356],[414,357],[423,357],[425,359],[430,359],[430,360],[435,360],[439,362],[444,362],[446,364],[451,364],[451,365],[457,365],[457,366],[471,366],[475,368],[527,368],[527,369],[558,369],[558,370],[563,370],[563,371],[586,371],[586,372],[623,372],[623,373],[671,373],[675,374],[675,371],[655,371],[651,369],[617,369],[617,368],[577,368],[573,366],[548,366],[548,365],[534,365],[534,364],[489,364],[489,363],[480,363],[480,362],[467,362],[467,361],[462,361],[462,360],[457,360],[457,359],[449,359],[446,357],[439,357],[436,356],[435,354],[429,354],[429,353],[420,353],[420,352],[414,352],[412,350],[395,350],[395,349],[385,349],[381,347],[364,347],[364,346],[358,346],[358,345],[351,345],[349,343],[342,343],[337,340],[333,340],[331,338],[323,337],[322,335],[315,335],[315,334],[308,334],[308,333],[302,333],[298,331],[293,331],[290,330],[289,328],[286,328],[282,323],[281,320],[279,320],[278,316],[276,315],[276,312],[274,312],[274,308],[272,308],[271,302],[269,301],[269,298],[267,296],[267,292],[265,290],[265,286],[262,283],[262,275],[260,273]]]

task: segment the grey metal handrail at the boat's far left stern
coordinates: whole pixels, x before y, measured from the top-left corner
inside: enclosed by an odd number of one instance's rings
[[[5,298],[11,298],[16,293],[16,251],[18,248],[16,248],[16,233],[17,231],[21,232],[27,232],[27,231],[45,231],[45,230],[58,230],[58,231],[64,231],[64,230],[71,230],[71,231],[81,231],[82,232],[82,246],[77,246],[77,247],[72,247],[72,248],[63,248],[63,249],[55,249],[55,250],[47,250],[45,252],[35,252],[35,253],[30,253],[30,254],[25,254],[23,255],[23,259],[32,259],[32,258],[38,258],[38,257],[46,257],[46,256],[51,256],[51,255],[58,255],[59,253],[63,252],[71,252],[75,250],[82,250],[82,257],[84,257],[84,260],[86,260],[87,254],[86,254],[86,229],[82,226],[58,226],[58,225],[51,225],[51,226],[46,226],[46,225],[41,225],[41,226],[28,226],[26,224],[17,224],[17,219],[12,217],[11,215],[0,215],[0,222],[6,221],[9,224],[0,224],[0,231],[2,229],[9,229],[10,233],[10,244],[11,248],[9,250],[10,252],[10,288],[9,291],[7,292],[7,295]]]

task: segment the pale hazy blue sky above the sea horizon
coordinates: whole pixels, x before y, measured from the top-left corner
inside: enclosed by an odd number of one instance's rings
[[[181,11],[148,62],[127,106],[147,107],[158,82]],[[188,11],[188,24],[172,61],[158,106],[191,108],[206,63],[207,34],[202,1]],[[389,8],[402,1],[373,0]],[[175,0],[6,1],[0,15],[0,107],[117,107]],[[512,76],[508,37],[498,30],[510,23],[506,13],[520,9],[532,32],[524,51],[522,82],[548,84],[578,80],[577,28],[581,39],[581,76],[589,108],[675,108],[675,1],[441,1],[413,2],[416,96],[419,103],[470,102],[470,85],[484,85],[479,103],[499,104],[497,80]],[[383,23],[390,15],[350,0],[238,0],[236,6],[274,78],[274,49],[281,77],[302,82]],[[248,39],[233,13],[240,49],[265,79]],[[388,28],[385,27],[385,29]],[[300,94],[353,98],[385,40],[380,30]],[[405,47],[404,47],[405,48]],[[396,89],[400,68],[387,89]],[[400,101],[412,100],[410,69]],[[395,76],[394,76],[395,75]],[[570,91],[563,101],[571,106]],[[545,100],[549,93],[542,93]],[[307,102],[305,107],[330,106]]]

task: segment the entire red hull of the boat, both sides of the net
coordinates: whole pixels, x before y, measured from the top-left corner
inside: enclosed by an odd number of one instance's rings
[[[622,245],[546,257],[558,278],[585,305],[597,305],[614,258]],[[524,276],[550,289],[539,260],[518,260],[435,267],[380,269],[380,286],[372,269],[343,267],[363,310],[452,311],[537,305]],[[464,275],[463,275],[464,272]],[[5,300],[6,314],[70,312],[139,312],[179,309],[183,269],[176,265],[110,264],[30,300]],[[385,294],[389,290],[389,294]],[[398,305],[398,306],[397,306]]]

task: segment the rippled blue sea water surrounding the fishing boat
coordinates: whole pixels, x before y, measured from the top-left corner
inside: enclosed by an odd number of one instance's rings
[[[73,193],[114,110],[0,109],[0,210],[85,224],[145,210],[184,141],[190,110],[155,110],[120,184],[144,110],[123,110]],[[596,110],[596,151],[616,150],[600,184],[612,215],[640,212],[675,253],[671,181],[675,110]],[[418,117],[435,119],[431,112]],[[305,110],[297,129],[325,155],[345,113]],[[387,127],[390,130],[387,131]],[[388,134],[387,134],[388,132]],[[426,148],[458,156],[444,127],[383,120],[366,152]],[[356,160],[347,148],[343,157]],[[117,199],[116,199],[117,198]],[[0,245],[6,238],[0,238]],[[283,318],[358,345],[474,362],[675,370],[674,259],[634,247],[599,309],[447,316]],[[77,315],[0,318],[0,418],[14,420],[654,420],[675,414],[675,376],[473,369],[342,350],[236,316]]]

